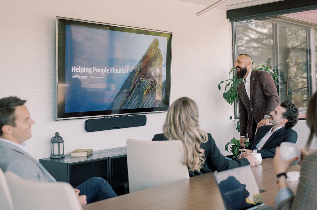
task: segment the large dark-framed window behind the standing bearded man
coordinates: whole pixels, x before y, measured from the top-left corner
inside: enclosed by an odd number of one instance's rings
[[[317,83],[317,10],[234,22],[232,28],[234,55],[249,54],[254,66],[273,69],[281,102],[293,102],[299,118],[306,118]]]

